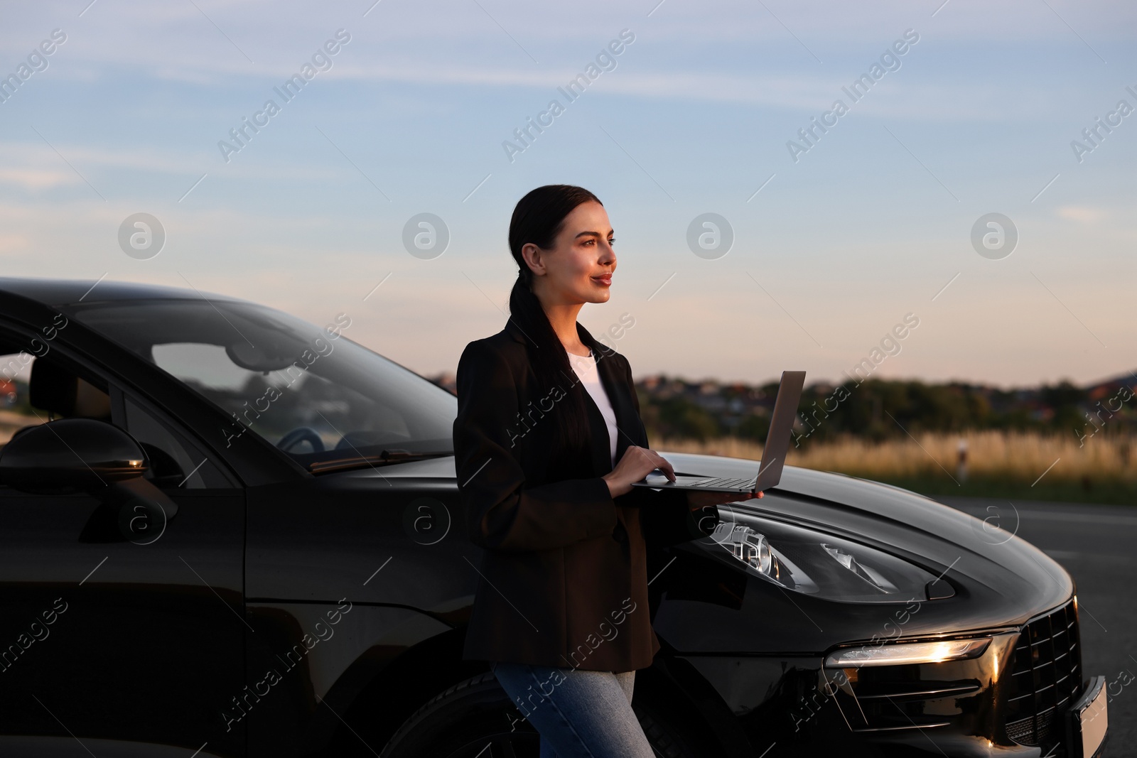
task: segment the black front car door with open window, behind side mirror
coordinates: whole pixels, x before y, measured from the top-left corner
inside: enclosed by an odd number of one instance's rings
[[[177,511],[108,534],[94,497],[0,483],[0,755],[243,756],[244,726],[225,717],[249,631],[243,490],[176,419],[68,349],[59,318],[0,318],[0,445],[61,410],[114,424]],[[53,414],[30,405],[67,397]]]

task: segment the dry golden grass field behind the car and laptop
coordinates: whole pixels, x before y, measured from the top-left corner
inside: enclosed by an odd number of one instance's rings
[[[960,441],[966,467],[960,469]],[[762,445],[733,438],[697,442],[654,439],[656,450],[758,459]],[[918,434],[881,443],[857,438],[792,444],[791,466],[840,472],[928,495],[964,495],[1137,505],[1137,439],[1077,438],[998,431]]]

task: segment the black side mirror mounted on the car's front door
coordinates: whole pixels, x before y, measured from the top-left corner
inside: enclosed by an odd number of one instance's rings
[[[92,418],[26,427],[0,449],[0,483],[32,494],[84,492],[102,503],[81,542],[146,544],[151,535],[160,536],[177,505],[143,478],[146,470],[134,438]]]

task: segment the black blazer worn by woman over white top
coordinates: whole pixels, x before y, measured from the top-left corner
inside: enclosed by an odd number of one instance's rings
[[[616,460],[648,447],[628,360],[576,324],[615,411]],[[634,488],[613,499],[607,427],[573,376],[537,386],[511,319],[458,361],[454,451],[466,528],[483,548],[463,658],[583,670],[652,665],[659,649],[647,592],[647,543],[704,536],[682,492]],[[558,400],[584,399],[590,448],[553,459]]]

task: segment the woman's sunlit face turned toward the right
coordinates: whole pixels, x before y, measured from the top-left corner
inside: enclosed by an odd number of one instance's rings
[[[522,255],[533,268],[533,291],[545,306],[607,302],[616,253],[612,225],[598,202],[582,202],[565,216],[553,248],[529,243]]]

